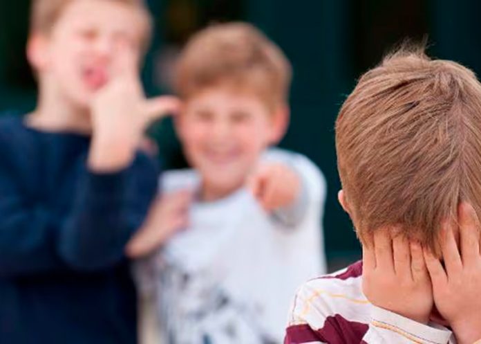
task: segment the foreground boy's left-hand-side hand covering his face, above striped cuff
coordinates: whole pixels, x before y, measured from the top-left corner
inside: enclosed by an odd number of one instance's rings
[[[422,247],[383,230],[363,246],[363,291],[377,307],[427,324],[433,293]]]

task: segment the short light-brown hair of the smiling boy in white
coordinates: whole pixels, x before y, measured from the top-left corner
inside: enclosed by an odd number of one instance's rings
[[[256,91],[268,105],[287,101],[292,67],[281,49],[254,26],[216,24],[194,35],[180,54],[174,88],[189,98],[227,82]]]

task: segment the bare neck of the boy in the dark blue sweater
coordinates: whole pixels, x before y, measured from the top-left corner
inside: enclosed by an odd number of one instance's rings
[[[87,108],[73,105],[61,93],[44,85],[39,89],[38,105],[27,116],[28,125],[47,132],[91,133],[91,117]]]

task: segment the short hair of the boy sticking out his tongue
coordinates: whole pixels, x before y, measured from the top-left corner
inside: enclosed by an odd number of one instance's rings
[[[50,33],[53,26],[62,15],[62,11],[69,3],[75,0],[32,0],[32,8],[30,10],[30,32]],[[142,0],[98,0],[98,1],[115,1],[132,6],[138,10],[144,27],[144,35],[142,36],[141,46],[147,51],[152,35],[152,20],[147,7]]]

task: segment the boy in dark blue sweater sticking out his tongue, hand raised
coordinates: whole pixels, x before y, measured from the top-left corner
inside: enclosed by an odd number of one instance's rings
[[[138,80],[149,16],[135,0],[37,0],[37,109],[0,120],[0,342],[135,343],[124,246],[158,172],[136,153],[176,109]]]

